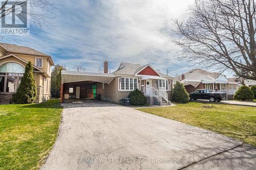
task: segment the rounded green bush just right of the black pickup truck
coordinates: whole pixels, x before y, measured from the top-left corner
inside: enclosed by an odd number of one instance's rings
[[[254,94],[251,91],[251,89],[246,86],[246,85],[242,85],[241,87],[239,87],[239,89],[236,91],[236,93],[234,93],[234,100],[253,100],[254,99]]]

